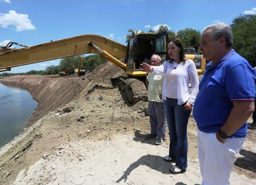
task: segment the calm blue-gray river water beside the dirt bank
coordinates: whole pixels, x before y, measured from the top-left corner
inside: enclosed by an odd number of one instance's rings
[[[21,133],[36,106],[27,90],[0,83],[0,148]]]

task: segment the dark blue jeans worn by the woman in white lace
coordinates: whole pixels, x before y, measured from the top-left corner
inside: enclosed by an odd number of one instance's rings
[[[188,167],[187,126],[191,110],[184,112],[177,99],[168,97],[164,100],[164,110],[170,136],[169,157],[176,159],[175,166],[184,170]]]

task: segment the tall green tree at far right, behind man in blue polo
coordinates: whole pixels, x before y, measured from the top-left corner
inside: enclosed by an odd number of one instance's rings
[[[256,15],[239,15],[230,25],[233,31],[233,48],[256,66]]]

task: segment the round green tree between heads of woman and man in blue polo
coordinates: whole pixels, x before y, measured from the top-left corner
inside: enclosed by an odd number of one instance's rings
[[[195,48],[196,52],[198,51],[201,38],[201,33],[199,30],[185,28],[178,31],[176,36],[183,42],[184,47],[189,45],[189,47]]]

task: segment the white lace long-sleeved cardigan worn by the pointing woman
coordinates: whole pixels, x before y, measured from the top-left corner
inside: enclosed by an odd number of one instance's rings
[[[199,91],[199,80],[195,63],[191,59],[187,58],[185,64],[184,62],[177,64],[174,61],[172,63],[165,61],[161,66],[152,67],[154,68],[153,74],[171,73],[172,69],[176,67],[178,78],[178,105],[184,104],[186,101],[190,104],[194,104]],[[189,81],[191,82],[191,92],[189,90]],[[164,75],[162,99],[166,100],[166,75]]]

